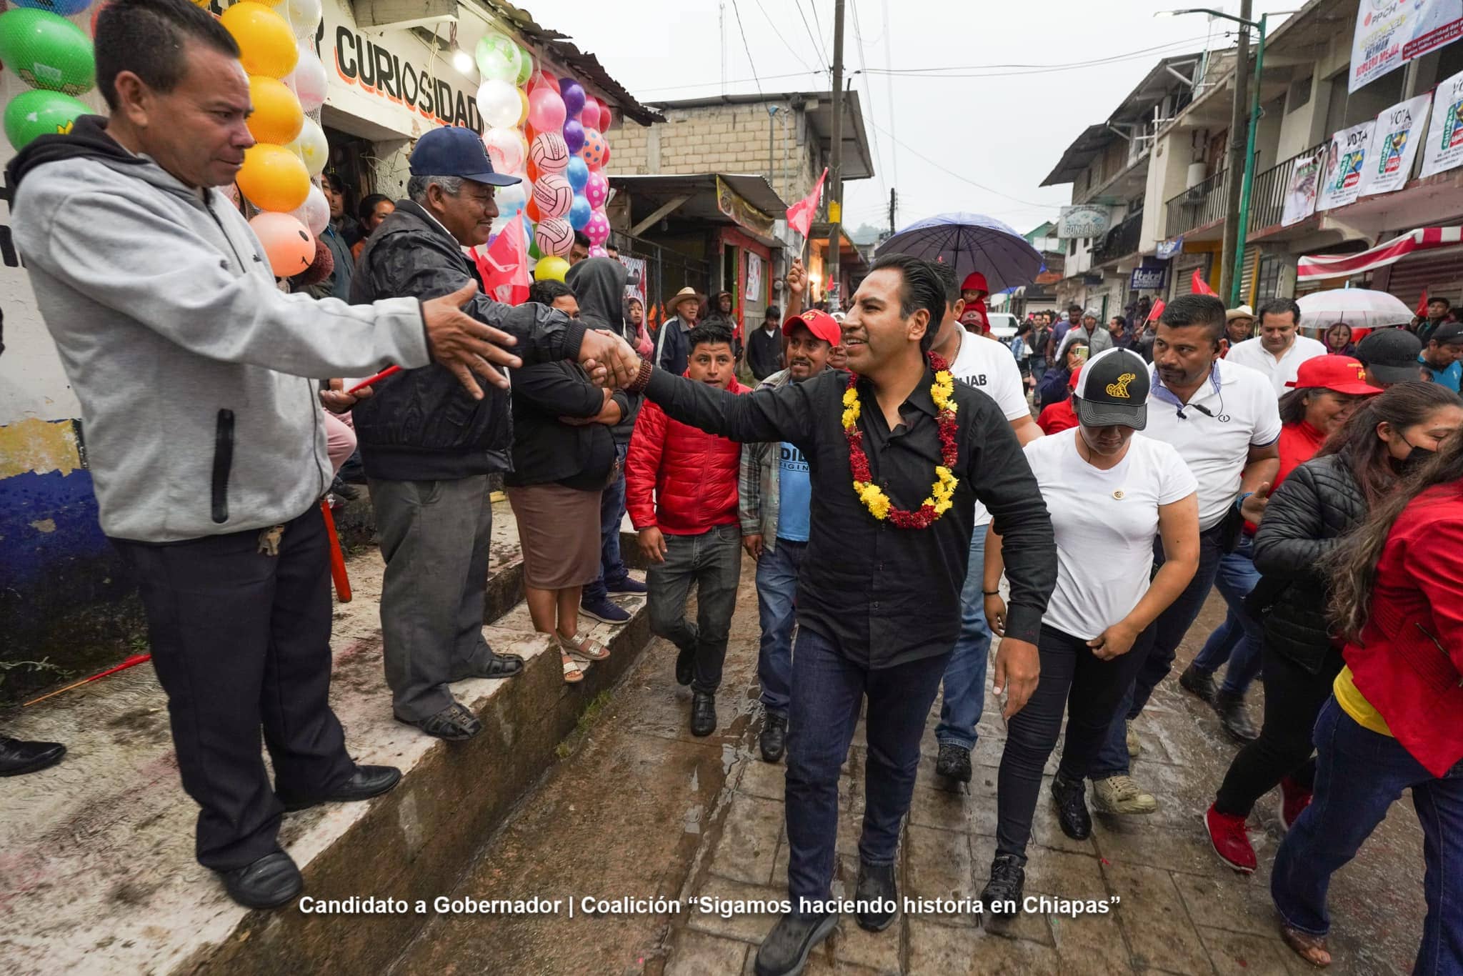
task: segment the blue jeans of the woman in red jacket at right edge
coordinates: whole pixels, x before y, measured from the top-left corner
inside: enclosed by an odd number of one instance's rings
[[[1443,777],[1422,768],[1391,736],[1362,727],[1331,698],[1315,723],[1315,796],[1276,852],[1270,897],[1287,925],[1325,935],[1331,875],[1412,789],[1422,824],[1422,890],[1428,917],[1413,976],[1463,973],[1463,762]]]

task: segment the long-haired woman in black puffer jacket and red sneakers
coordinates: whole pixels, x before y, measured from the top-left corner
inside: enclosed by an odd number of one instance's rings
[[[1415,443],[1463,424],[1463,399],[1435,383],[1400,383],[1364,404],[1321,452],[1298,467],[1265,508],[1255,534],[1263,574],[1251,604],[1268,604],[1261,658],[1265,720],[1239,751],[1204,817],[1214,852],[1236,871],[1257,866],[1245,834],[1255,802],[1280,784],[1289,827],[1311,802],[1311,727],[1342,670],[1330,635],[1325,577],[1317,566],[1400,483]],[[1422,455],[1418,455],[1419,458]]]

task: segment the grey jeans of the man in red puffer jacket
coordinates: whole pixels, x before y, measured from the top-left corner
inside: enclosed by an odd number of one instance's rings
[[[666,562],[645,575],[650,629],[682,651],[695,654],[691,689],[714,695],[721,686],[727,634],[742,579],[742,530],[717,525],[699,536],[666,533]],[[686,597],[696,584],[696,622],[686,619]]]

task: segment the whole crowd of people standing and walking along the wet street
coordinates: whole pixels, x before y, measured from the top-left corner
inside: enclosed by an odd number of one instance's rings
[[[129,42],[143,32],[167,42]],[[405,196],[361,200],[354,243],[331,184],[334,266],[298,287],[217,189],[252,145],[231,37],[187,0],[117,0],[97,63],[110,114],[9,168],[16,239],[82,404],[102,530],[140,588],[198,859],[238,903],[301,890],[284,812],[399,780],[351,759],[328,702],[317,503],[350,446],[386,565],[392,714],[429,736],[481,730],[454,682],[524,670],[483,637],[490,477],[563,680],[610,653],[581,617],[622,623],[612,597],[645,593],[696,736],[717,727],[755,560],[758,745],[786,761],[794,906],[756,953],[762,976],[800,972],[838,922],[838,777],[860,714],[856,920],[882,931],[926,717],[939,697],[936,774],[969,783],[993,670],[1007,742],[982,901],[1005,915],[1064,720],[1049,793],[1068,837],[1091,833],[1088,783],[1100,814],[1157,809],[1132,776],[1134,723],[1211,590],[1226,617],[1179,685],[1244,743],[1206,815],[1217,855],[1255,869],[1246,817],[1279,786],[1280,929],[1324,966],[1328,879],[1410,787],[1428,901],[1413,972],[1463,966],[1463,326],[1445,303],[1324,342],[1289,299],[1251,313],[1182,296],[1106,325],[1074,306],[1005,345],[983,279],[882,255],[834,313],[803,307],[794,262],[786,312],[745,348],[734,296],[691,287],[648,335],[614,258],[576,255],[518,306],[480,294],[465,249],[514,177],[464,129],[417,140]],[[401,370],[350,392],[385,364]],[[347,414],[350,439],[322,423]],[[644,584],[619,550],[626,514]]]

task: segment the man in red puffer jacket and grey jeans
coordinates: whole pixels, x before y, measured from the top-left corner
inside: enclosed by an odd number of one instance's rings
[[[686,376],[745,394],[732,332],[715,322],[688,337]],[[676,680],[691,685],[691,733],[717,727],[717,688],[742,578],[737,471],[742,445],[670,420],[645,401],[625,458],[625,508],[650,560],[650,629],[679,648]],[[696,622],[686,596],[696,584]]]

